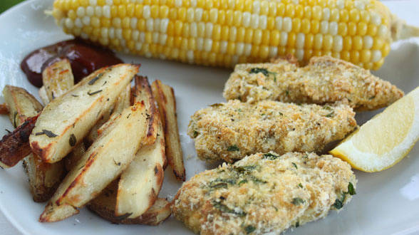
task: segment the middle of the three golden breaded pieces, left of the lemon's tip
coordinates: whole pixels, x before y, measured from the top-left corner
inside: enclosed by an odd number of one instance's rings
[[[348,105],[296,105],[264,100],[227,103],[198,110],[187,130],[198,157],[234,162],[257,152],[317,152],[356,127]]]

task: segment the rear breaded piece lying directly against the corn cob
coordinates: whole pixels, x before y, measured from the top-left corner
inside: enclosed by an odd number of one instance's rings
[[[355,110],[383,108],[401,97],[403,91],[395,85],[330,56],[313,57],[304,67],[292,62],[292,58],[239,64],[224,87],[227,100],[316,104],[345,101]]]

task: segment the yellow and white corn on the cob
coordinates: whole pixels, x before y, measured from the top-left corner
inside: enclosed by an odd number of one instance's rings
[[[377,0],[56,0],[66,33],[117,51],[210,66],[329,55],[378,69],[391,14]]]

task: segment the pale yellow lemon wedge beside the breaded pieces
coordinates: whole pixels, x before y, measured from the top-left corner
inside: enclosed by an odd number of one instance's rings
[[[346,137],[330,154],[363,172],[379,172],[408,155],[418,138],[419,87]]]

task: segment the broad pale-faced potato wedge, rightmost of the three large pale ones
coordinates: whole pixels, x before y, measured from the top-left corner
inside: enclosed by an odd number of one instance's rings
[[[165,137],[161,123],[158,124],[155,143],[143,146],[120,175],[116,216],[130,214],[128,219],[134,219],[144,214],[157,199],[163,184],[166,159]]]

